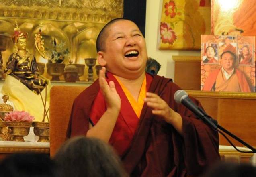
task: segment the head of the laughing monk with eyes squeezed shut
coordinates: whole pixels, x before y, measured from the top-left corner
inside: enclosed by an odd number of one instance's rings
[[[98,63],[114,75],[134,79],[145,73],[147,49],[138,26],[123,18],[110,21],[96,40]]]

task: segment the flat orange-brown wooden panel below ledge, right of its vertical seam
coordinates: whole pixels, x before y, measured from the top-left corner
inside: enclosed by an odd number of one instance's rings
[[[218,113],[219,125],[256,146],[256,100],[220,98]],[[241,146],[236,140],[233,142]],[[220,144],[229,145],[229,142],[220,136]]]

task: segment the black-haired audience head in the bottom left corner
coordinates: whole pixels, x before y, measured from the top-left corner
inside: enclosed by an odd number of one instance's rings
[[[0,163],[1,177],[57,177],[56,171],[47,154],[12,154]]]

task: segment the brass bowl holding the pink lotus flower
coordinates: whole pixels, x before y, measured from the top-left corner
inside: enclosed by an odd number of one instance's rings
[[[32,122],[6,122],[6,126],[9,127],[12,141],[24,142],[23,136],[29,134]]]

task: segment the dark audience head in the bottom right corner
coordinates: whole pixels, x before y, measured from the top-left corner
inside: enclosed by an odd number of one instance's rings
[[[249,163],[221,162],[202,177],[256,177],[256,167]]]

